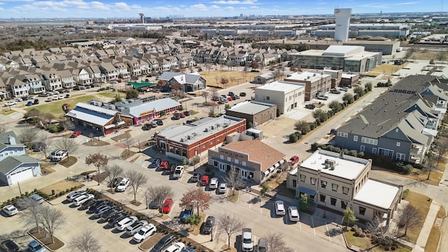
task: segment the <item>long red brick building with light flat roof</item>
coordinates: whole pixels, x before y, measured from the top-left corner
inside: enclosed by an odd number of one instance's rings
[[[232,116],[202,118],[185,125],[174,125],[156,136],[157,145],[165,155],[182,160],[191,160],[196,155],[207,155],[209,148],[221,146],[225,137],[246,130],[246,119]]]

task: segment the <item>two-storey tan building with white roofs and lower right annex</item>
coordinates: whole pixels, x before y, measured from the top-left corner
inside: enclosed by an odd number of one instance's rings
[[[403,188],[370,179],[371,169],[372,160],[319,149],[290,172],[287,186],[321,207],[339,212],[349,207],[358,219],[379,216],[388,225]]]

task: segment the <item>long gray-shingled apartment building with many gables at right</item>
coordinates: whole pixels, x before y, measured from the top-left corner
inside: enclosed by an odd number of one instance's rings
[[[447,107],[446,91],[434,81],[434,76],[403,78],[337,128],[334,144],[420,164]]]

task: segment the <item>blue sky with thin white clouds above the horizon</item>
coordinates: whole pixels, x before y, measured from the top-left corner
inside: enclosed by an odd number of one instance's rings
[[[448,0],[0,0],[0,19],[319,15],[332,14],[335,8],[352,8],[352,13],[440,12],[447,10]]]

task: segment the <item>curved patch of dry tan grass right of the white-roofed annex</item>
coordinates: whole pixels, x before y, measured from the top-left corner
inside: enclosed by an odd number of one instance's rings
[[[423,218],[424,221],[424,219],[428,215],[429,206],[431,204],[431,202],[428,201],[428,196],[409,191],[405,200],[409,202],[409,204],[411,204],[412,206],[416,207],[416,209],[420,210],[421,217]],[[419,238],[421,227],[423,226],[423,221],[421,222],[421,225],[419,225],[418,228],[408,229],[407,235],[405,237],[402,237],[402,239],[406,239],[407,241],[410,241],[415,244],[417,238]]]

